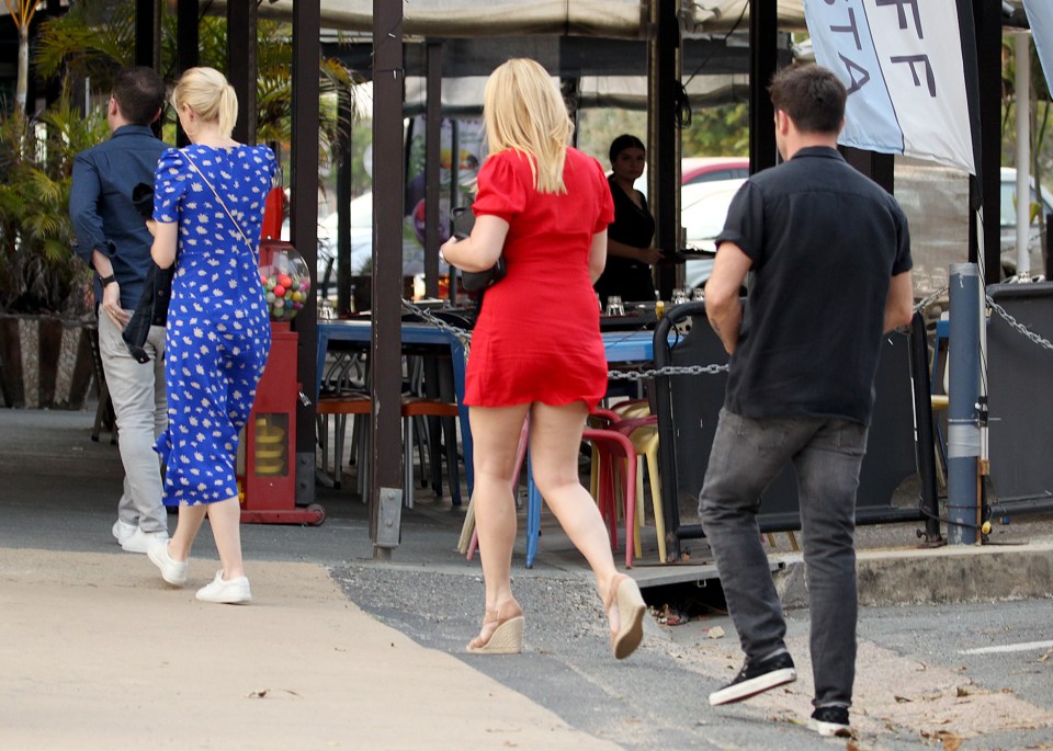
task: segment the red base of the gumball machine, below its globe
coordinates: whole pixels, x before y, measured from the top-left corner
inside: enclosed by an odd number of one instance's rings
[[[241,521],[321,524],[317,503],[296,505],[297,334],[288,323],[271,322],[271,353],[245,428]]]

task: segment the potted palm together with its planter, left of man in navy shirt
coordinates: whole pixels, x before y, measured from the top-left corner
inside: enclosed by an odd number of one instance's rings
[[[0,395],[8,407],[80,409],[92,376],[84,327],[91,276],[72,252],[76,153],[104,138],[101,115],[60,100],[0,118]]]

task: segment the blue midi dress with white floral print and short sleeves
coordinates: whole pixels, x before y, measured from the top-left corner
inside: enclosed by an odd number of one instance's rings
[[[168,430],[155,446],[167,467],[166,505],[238,496],[238,433],[271,348],[258,252],[275,168],[265,146],[193,145],[166,151],[154,175],[154,218],[179,224],[165,341]]]

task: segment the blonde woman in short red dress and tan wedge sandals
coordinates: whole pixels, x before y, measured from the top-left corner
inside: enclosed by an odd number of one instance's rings
[[[600,512],[578,478],[585,420],[607,390],[592,284],[614,218],[600,163],[568,147],[573,124],[558,88],[534,60],[511,59],[486,84],[490,153],[479,171],[472,235],[445,260],[485,271],[503,254],[507,276],[487,289],[472,337],[465,402],[475,442],[473,505],[486,611],[469,652],[522,650],[523,611],[511,590],[516,448],[530,417],[534,481],[596,573],[619,659],[643,636],[644,601],[614,568]]]

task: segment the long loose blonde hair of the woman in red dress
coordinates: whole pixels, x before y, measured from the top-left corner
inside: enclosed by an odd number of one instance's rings
[[[486,82],[483,115],[490,153],[520,151],[537,192],[567,192],[563,166],[574,123],[548,71],[524,57],[502,62]]]

